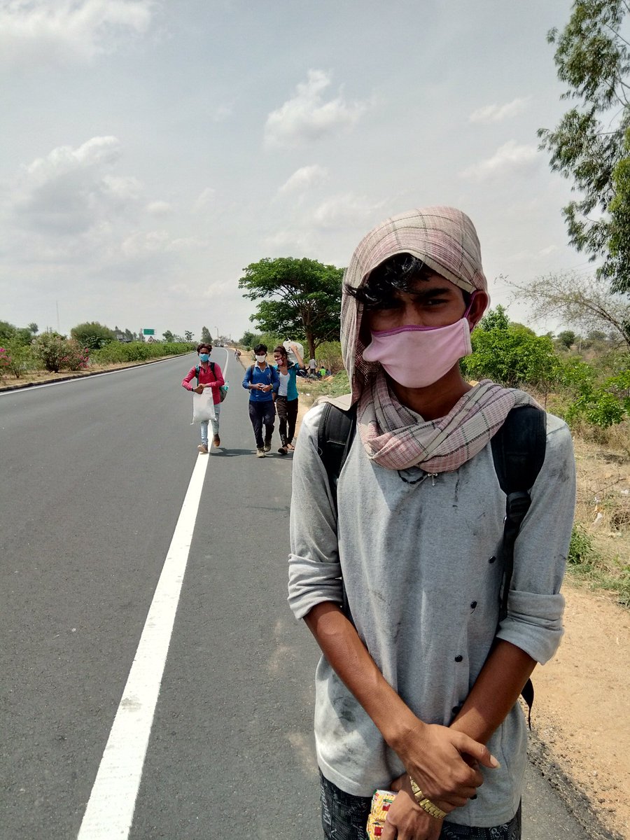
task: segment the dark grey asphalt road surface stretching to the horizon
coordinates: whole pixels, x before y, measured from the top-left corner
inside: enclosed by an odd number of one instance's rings
[[[226,357],[213,351],[223,368]],[[119,706],[134,705],[125,684],[155,623],[147,615],[202,457],[180,387],[194,360],[0,394],[2,840],[86,832]],[[242,377],[230,355],[223,445],[206,458],[184,540],[129,832],[106,826],[81,840],[321,836],[318,654],[286,605],[291,458],[275,449],[255,457]],[[104,801],[113,824],[133,782],[124,773],[105,781],[118,791]],[[589,837],[535,770],[524,818],[526,840]]]

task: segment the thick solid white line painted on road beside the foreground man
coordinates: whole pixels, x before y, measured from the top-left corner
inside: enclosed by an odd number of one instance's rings
[[[197,456],[77,840],[129,837],[207,463]]]

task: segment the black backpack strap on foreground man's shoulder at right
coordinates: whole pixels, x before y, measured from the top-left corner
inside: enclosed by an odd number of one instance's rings
[[[506,517],[503,526],[501,554],[503,558],[503,589],[499,606],[499,623],[507,616],[514,570],[514,543],[532,503],[532,489],[543,466],[547,446],[545,412],[535,406],[518,406],[508,413],[505,423],[491,440],[492,458],[501,490],[506,494]],[[521,692],[528,704],[531,728],[533,684],[528,680]]]

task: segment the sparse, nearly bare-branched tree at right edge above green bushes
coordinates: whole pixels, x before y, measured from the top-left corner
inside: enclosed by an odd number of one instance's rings
[[[617,334],[630,350],[630,302],[601,287],[593,277],[575,273],[537,277],[528,286],[507,281],[515,289],[514,300],[528,303],[534,320],[558,318],[563,323],[582,328],[583,333],[597,330]]]

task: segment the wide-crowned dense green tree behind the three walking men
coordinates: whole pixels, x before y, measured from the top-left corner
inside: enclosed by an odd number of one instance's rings
[[[260,300],[249,320],[265,333],[306,339],[312,358],[324,341],[339,341],[344,270],[306,257],[269,257],[244,269],[239,289]]]

